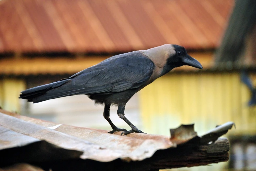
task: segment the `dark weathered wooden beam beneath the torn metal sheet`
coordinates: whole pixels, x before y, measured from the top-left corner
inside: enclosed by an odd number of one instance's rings
[[[124,162],[120,159],[112,162],[97,162],[93,160],[67,160],[44,163],[32,163],[44,169],[52,170],[112,170],[112,171],[158,171],[179,167],[208,165],[211,163],[228,161],[229,142],[226,138],[219,138],[211,145],[186,143],[176,148],[158,150],[148,159],[136,162]]]

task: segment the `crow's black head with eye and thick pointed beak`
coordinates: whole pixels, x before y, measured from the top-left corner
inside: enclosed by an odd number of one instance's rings
[[[203,69],[201,63],[198,62],[198,60],[189,56],[187,54],[186,49],[183,46],[172,44],[171,47],[172,52],[169,54],[167,58],[167,65],[169,65],[172,68],[188,65],[195,68]]]

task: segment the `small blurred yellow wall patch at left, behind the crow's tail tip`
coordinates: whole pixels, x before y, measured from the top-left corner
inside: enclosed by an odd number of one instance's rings
[[[25,81],[19,79],[1,79],[0,80],[0,106],[4,110],[19,112],[21,91],[25,90]]]

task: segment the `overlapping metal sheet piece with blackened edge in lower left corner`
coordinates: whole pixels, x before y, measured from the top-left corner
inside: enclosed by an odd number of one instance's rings
[[[20,162],[46,162],[79,158],[83,152],[60,148],[10,129],[0,128],[0,165]]]

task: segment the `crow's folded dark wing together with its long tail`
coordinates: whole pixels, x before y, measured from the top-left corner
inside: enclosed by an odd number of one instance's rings
[[[69,78],[25,90],[19,98],[38,103],[77,94],[106,96],[129,89],[135,92],[149,80],[153,69],[154,63],[144,54],[129,52],[108,58]],[[120,99],[116,95],[115,98]],[[116,99],[112,99],[112,103],[119,103]]]

